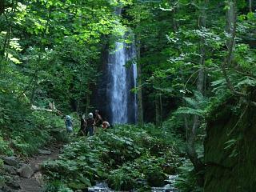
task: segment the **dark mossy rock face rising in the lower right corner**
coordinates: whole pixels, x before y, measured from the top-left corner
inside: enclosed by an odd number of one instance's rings
[[[255,112],[254,106],[238,106],[231,98],[210,115],[205,140],[205,192],[256,190]]]

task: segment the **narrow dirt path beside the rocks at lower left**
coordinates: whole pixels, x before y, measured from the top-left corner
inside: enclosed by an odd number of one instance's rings
[[[49,160],[57,159],[62,144],[55,144],[54,146],[47,148],[46,151],[50,151],[50,154],[38,154],[36,157],[29,158],[28,164],[34,170],[34,175],[31,178],[20,178],[21,189],[19,192],[41,192],[42,191],[42,174],[38,170],[40,163]]]

